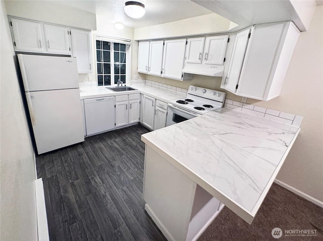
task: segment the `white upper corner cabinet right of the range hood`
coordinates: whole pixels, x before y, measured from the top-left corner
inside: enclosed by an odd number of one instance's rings
[[[278,97],[299,33],[292,22],[259,24],[238,32],[221,88],[262,101]]]

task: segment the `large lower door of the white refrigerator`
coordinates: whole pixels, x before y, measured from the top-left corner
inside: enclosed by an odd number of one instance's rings
[[[27,92],[38,154],[84,141],[79,89]]]

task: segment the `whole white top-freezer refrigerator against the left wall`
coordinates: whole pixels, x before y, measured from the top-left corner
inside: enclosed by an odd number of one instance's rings
[[[76,59],[18,54],[38,154],[84,141]]]

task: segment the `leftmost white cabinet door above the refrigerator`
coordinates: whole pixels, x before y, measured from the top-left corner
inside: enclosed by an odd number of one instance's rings
[[[11,19],[16,51],[44,52],[41,24],[21,19]]]

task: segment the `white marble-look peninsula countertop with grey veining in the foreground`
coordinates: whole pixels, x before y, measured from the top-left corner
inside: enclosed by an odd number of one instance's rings
[[[222,108],[141,139],[251,223],[299,130]]]

